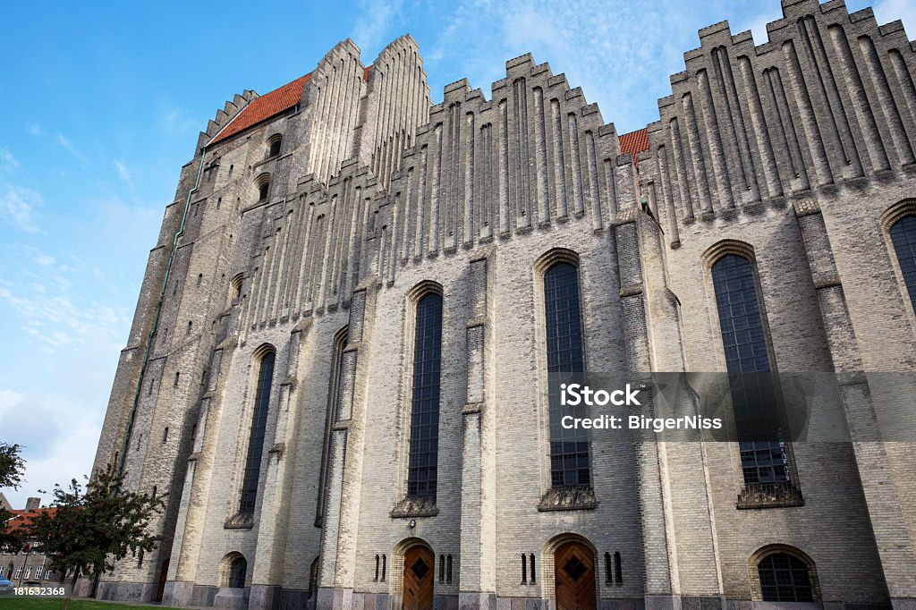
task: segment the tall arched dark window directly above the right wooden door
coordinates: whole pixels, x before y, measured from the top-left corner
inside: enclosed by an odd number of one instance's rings
[[[544,274],[544,311],[547,330],[547,372],[582,373],[585,370],[579,269],[559,262]],[[587,487],[588,437],[583,430],[562,427],[560,396],[550,395],[551,487]]]

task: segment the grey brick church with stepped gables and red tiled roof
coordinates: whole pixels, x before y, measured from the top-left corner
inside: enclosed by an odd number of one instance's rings
[[[916,608],[913,442],[558,425],[553,373],[916,369],[916,51],[782,0],[618,135],[530,55],[432,104],[346,40],[225,103],[152,249],[96,467],[168,494],[97,596],[279,608]],[[914,439],[916,441],[916,439]],[[787,606],[788,607],[788,606]]]

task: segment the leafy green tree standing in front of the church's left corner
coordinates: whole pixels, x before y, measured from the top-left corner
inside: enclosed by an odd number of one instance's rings
[[[35,517],[29,536],[44,550],[52,568],[71,574],[73,586],[82,574],[93,579],[114,572],[128,553],[149,552],[161,536],[150,532],[149,521],[165,506],[161,497],[123,488],[124,474],[109,463],[86,484],[76,479],[67,488],[54,485],[55,510]],[[70,605],[70,596],[64,610]]]

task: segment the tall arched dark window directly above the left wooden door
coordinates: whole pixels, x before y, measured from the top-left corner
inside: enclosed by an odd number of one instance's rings
[[[417,303],[407,495],[431,497],[433,501],[439,460],[441,361],[442,295],[431,292]]]

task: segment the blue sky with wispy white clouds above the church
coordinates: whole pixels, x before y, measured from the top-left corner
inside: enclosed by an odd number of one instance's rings
[[[916,3],[874,8],[916,38]],[[234,93],[300,77],[344,38],[369,64],[409,32],[434,101],[461,78],[489,97],[505,61],[531,51],[625,133],[658,118],[697,29],[727,18],[759,43],[780,15],[778,0],[6,6],[0,440],[25,445],[27,481],[2,491],[21,507],[89,472],[162,211],[198,132]]]

